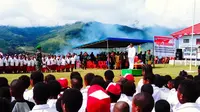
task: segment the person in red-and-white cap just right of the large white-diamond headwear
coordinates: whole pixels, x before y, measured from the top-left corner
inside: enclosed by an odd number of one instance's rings
[[[117,103],[121,96],[121,88],[119,84],[110,83],[106,88],[107,94],[110,96],[111,104],[110,104],[110,112],[113,112],[114,105]]]

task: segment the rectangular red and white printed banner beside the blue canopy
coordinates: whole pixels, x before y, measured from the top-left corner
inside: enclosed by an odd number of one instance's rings
[[[158,57],[174,57],[175,39],[169,36],[154,36],[154,55]]]

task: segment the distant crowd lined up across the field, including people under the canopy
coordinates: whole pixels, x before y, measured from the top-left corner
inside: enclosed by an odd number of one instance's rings
[[[151,52],[151,51],[150,51]],[[136,54],[137,62],[141,64],[148,63],[147,58],[150,52]],[[42,72],[69,72],[77,67],[87,69],[87,62],[93,62],[98,68],[99,61],[105,61],[109,69],[124,69],[129,67],[127,52],[110,52],[109,54],[102,52],[97,55],[80,53],[67,55],[43,55],[42,56]],[[136,63],[137,63],[136,62]],[[0,74],[2,73],[31,73],[36,70],[36,55],[1,55],[0,54]]]

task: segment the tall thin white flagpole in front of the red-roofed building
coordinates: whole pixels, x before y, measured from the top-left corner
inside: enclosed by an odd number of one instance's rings
[[[193,45],[193,38],[194,38],[195,8],[196,8],[196,0],[194,0],[194,4],[193,4],[192,36],[191,36],[191,51],[190,51],[190,71],[192,70],[192,45]]]

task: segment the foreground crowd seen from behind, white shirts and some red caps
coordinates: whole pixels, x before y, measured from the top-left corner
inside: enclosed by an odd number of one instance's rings
[[[137,86],[132,74],[120,76],[116,82],[114,77],[112,70],[106,70],[104,77],[87,73],[82,78],[79,72],[72,72],[68,81],[35,71],[10,85],[0,77],[0,111],[200,112],[200,75],[180,71],[172,79],[153,74],[151,65],[143,65]]]

